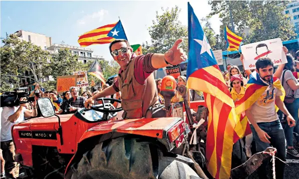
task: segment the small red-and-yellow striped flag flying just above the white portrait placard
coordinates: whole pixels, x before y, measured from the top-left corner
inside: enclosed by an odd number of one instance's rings
[[[236,35],[234,32],[228,29],[227,25],[224,28],[224,38],[226,41],[227,51],[237,51],[239,50],[240,43],[242,41],[242,37]]]

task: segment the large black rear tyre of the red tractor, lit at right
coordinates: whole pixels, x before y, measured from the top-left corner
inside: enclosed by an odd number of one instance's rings
[[[157,145],[119,137],[97,144],[83,154],[72,179],[160,178],[198,179],[196,172],[174,157],[163,156]]]

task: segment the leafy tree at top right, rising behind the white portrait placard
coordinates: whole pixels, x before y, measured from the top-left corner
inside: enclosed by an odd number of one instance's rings
[[[210,0],[208,3],[212,7],[209,16],[219,14],[221,18],[220,29],[224,29],[225,24],[232,29],[229,16],[231,9],[235,31],[243,37],[244,43],[271,38],[281,38],[282,41],[295,38],[293,24],[287,19],[288,15],[283,14],[288,1]],[[246,34],[245,27],[249,28]]]

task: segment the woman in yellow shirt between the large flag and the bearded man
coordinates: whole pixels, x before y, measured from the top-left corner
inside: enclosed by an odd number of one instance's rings
[[[238,101],[240,100],[245,94],[245,87],[243,86],[243,77],[241,74],[234,74],[230,77],[230,94],[232,100]],[[251,157],[251,142],[253,140],[252,133],[246,135],[245,137],[245,152],[247,157]]]

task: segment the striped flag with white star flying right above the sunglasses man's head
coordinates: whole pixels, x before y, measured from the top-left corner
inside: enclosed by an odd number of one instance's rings
[[[100,26],[99,28],[90,30],[79,36],[78,43],[81,46],[89,46],[92,44],[110,43],[115,39],[126,39],[127,36],[123,28],[122,22]]]

